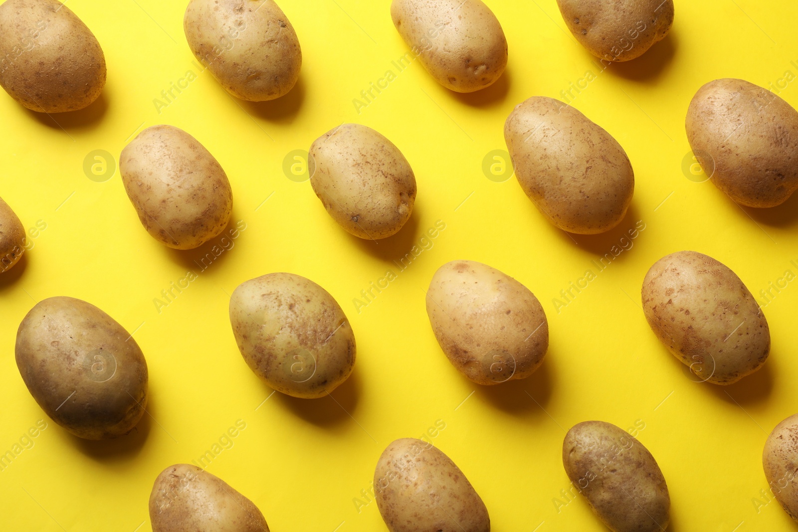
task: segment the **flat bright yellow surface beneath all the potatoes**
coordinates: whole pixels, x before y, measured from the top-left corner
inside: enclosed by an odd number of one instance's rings
[[[252,499],[275,532],[385,530],[369,494],[377,457],[393,439],[442,423],[433,442],[476,487],[492,530],[604,530],[587,502],[567,495],[560,456],[573,424],[606,420],[643,427],[638,439],[670,488],[671,532],[796,530],[760,490],[764,440],[798,412],[798,285],[779,281],[785,270],[798,273],[798,197],[755,211],[699,183],[704,177],[689,171],[684,120],[693,93],[719,77],[772,87],[798,106],[798,83],[787,81],[798,74],[798,4],[679,0],[665,41],[602,72],[565,29],[555,0],[493,0],[508,69],[492,88],[462,96],[417,61],[403,71],[393,65],[408,49],[387,0],[279,3],[298,33],[303,65],[294,90],[271,103],[228,97],[188,49],[186,2],[160,0],[69,0],[108,61],[105,92],[85,111],[50,118],[0,93],[0,195],[34,230],[24,262],[0,278],[0,451],[19,451],[0,471],[0,528],[149,530],[156,475],[208,451],[207,471]],[[353,100],[389,70],[396,79],[358,112]],[[588,72],[595,80],[586,84]],[[181,81],[187,73],[196,79]],[[492,180],[483,171],[489,152],[507,149],[504,120],[516,104],[562,98],[572,83],[587,88],[573,91],[571,103],[622,144],[635,171],[629,215],[599,236],[555,229],[515,178]],[[172,84],[186,88],[156,106]],[[378,244],[343,231],[310,183],[283,171],[286,154],[307,150],[342,122],[383,133],[416,174],[413,218]],[[226,247],[217,238],[223,252],[204,270],[199,260],[210,247],[169,250],[144,231],[118,167],[105,181],[84,171],[91,152],[116,159],[153,124],[196,136],[231,181],[234,219],[246,230]],[[438,220],[444,231],[423,238]],[[644,231],[623,238],[636,224]],[[599,271],[594,261],[613,248],[622,251]],[[640,308],[649,266],[685,249],[732,268],[768,318],[767,365],[727,388],[694,382]],[[408,253],[412,259],[400,262]],[[551,346],[534,376],[481,388],[440,351],[424,290],[438,266],[457,258],[504,271],[543,303]],[[356,308],[361,290],[386,270],[397,278]],[[587,288],[555,305],[587,270],[596,277]],[[196,280],[156,305],[188,271]],[[236,348],[229,294],[274,271],[318,282],[350,318],[357,364],[330,397],[272,395]],[[771,282],[787,287],[765,301],[759,292]],[[56,295],[89,301],[135,332],[150,376],[148,415],[136,432],[81,441],[27,391],[14,363],[16,330],[36,301]],[[23,439],[30,448],[14,447],[38,420],[46,428]],[[236,423],[245,428],[219,444]]]

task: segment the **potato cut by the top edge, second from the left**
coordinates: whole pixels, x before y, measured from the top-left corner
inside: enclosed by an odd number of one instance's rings
[[[302,49],[274,0],[191,0],[183,29],[195,57],[237,98],[274,100],[299,79]]]

